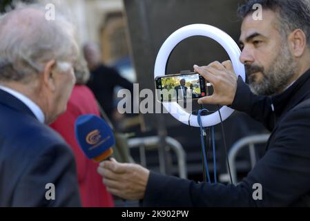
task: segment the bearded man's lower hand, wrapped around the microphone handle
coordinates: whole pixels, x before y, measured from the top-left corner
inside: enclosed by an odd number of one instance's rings
[[[101,162],[98,173],[102,175],[107,190],[127,200],[144,198],[150,171],[138,164],[122,164],[115,159]]]

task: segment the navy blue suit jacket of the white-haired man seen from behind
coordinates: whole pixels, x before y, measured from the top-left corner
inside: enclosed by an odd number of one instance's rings
[[[66,142],[19,99],[0,90],[0,206],[80,206]],[[55,200],[46,200],[46,184]]]

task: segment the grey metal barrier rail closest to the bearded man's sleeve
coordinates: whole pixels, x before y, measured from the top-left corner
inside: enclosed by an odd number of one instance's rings
[[[250,151],[250,159],[251,159],[251,167],[253,169],[254,165],[256,164],[256,155],[255,155],[255,145],[254,144],[263,144],[266,143],[269,139],[269,134],[264,135],[252,135],[248,137],[244,137],[231,147],[229,151],[229,164],[231,166],[231,177],[233,178],[233,184],[237,184],[237,169],[235,166],[235,157],[237,156],[238,152],[246,147],[249,146]]]

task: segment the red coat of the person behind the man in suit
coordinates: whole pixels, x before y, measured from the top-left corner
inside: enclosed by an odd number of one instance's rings
[[[114,206],[112,195],[106,191],[102,177],[97,173],[98,163],[88,160],[75,140],[75,119],[84,114],[99,115],[97,102],[87,86],[75,86],[66,113],[60,115],[50,126],[64,137],[75,155],[82,205],[86,207]]]

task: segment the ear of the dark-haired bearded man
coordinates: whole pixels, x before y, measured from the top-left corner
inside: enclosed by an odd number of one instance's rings
[[[289,34],[288,41],[292,55],[301,57],[307,47],[307,37],[304,32],[300,29],[294,30]]]

